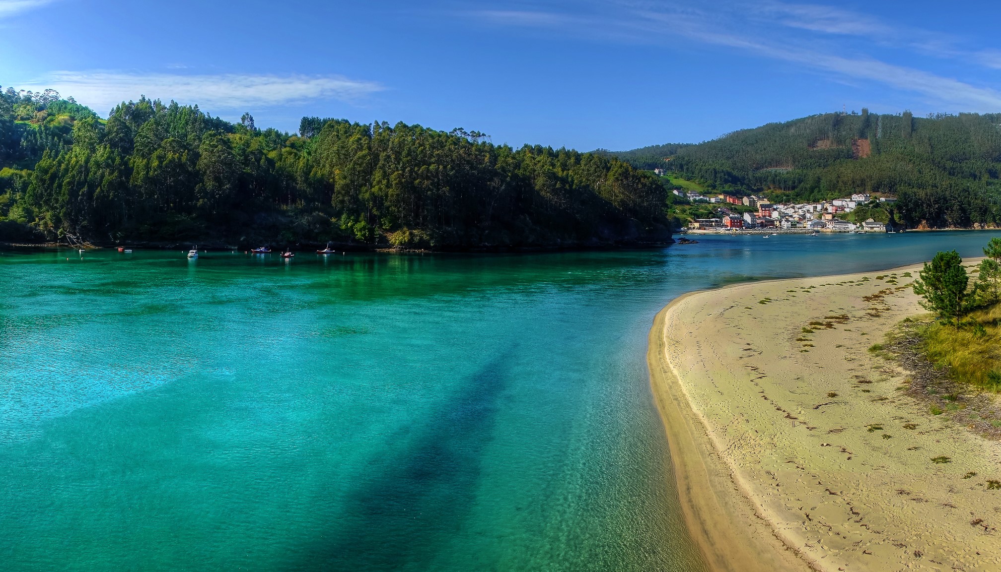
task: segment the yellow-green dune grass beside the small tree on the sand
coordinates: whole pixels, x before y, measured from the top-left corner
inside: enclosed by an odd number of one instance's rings
[[[1001,391],[1001,304],[958,322],[931,323],[920,332],[936,367],[949,366],[958,381]]]

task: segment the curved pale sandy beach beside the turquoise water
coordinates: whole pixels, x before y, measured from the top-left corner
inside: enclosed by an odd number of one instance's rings
[[[919,266],[681,297],[648,361],[715,570],[1001,570],[1001,443],[868,351],[924,313]]]

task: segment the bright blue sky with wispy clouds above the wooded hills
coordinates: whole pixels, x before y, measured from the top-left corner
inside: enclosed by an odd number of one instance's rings
[[[0,0],[0,85],[581,150],[804,115],[1001,112],[996,4]]]

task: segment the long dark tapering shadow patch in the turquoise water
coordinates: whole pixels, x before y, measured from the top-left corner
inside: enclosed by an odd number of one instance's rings
[[[461,530],[473,501],[515,350],[468,376],[404,453],[374,463],[371,476],[349,493],[344,513],[314,531],[321,538],[307,540],[297,570],[428,569],[441,542]]]

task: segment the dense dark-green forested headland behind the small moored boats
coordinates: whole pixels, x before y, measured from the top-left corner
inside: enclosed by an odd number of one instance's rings
[[[615,157],[306,117],[299,133],[140,98],[107,119],[0,91],[0,240],[431,249],[670,240],[667,191]]]

